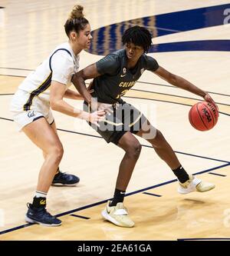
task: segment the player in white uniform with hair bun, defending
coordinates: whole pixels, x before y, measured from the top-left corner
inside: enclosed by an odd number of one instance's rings
[[[60,164],[63,147],[58,138],[51,108],[74,118],[93,122],[104,118],[104,111],[87,113],[69,105],[64,98],[83,99],[68,87],[72,75],[79,68],[79,54],[90,47],[90,24],[83,15],[83,7],[75,5],[64,25],[69,41],[59,45],[21,83],[11,101],[13,119],[19,131],[31,139],[44,155],[38,177],[37,191],[32,204],[28,204],[25,221],[47,226],[58,226],[61,220],[46,210],[46,196],[51,184],[75,185],[79,178],[62,173]]]

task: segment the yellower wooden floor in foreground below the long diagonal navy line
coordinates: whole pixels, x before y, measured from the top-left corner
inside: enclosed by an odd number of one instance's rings
[[[130,214],[136,222],[134,228],[119,228],[102,221],[100,211],[105,204],[98,202],[59,214],[63,221],[59,228],[25,224],[15,231],[2,234],[1,239],[17,241],[226,239],[229,238],[230,204],[228,200],[223,200],[223,194],[228,194],[229,171],[228,165],[218,168],[215,172],[199,175],[217,186],[215,190],[206,194],[194,193],[181,196],[176,192],[175,181],[166,182],[156,188],[153,186],[134,191],[135,194],[126,198],[126,204],[130,205]]]

